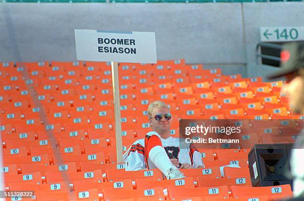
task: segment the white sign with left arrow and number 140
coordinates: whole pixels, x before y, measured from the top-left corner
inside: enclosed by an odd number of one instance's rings
[[[263,42],[304,40],[304,27],[260,27]]]

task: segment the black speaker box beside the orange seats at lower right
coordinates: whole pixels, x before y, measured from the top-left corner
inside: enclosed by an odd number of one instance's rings
[[[248,154],[253,187],[292,185],[285,174],[290,172],[290,151],[293,144],[256,144]]]

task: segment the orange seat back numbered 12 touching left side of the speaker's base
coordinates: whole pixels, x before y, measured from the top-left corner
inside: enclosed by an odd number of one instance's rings
[[[198,186],[201,187],[214,187],[214,186],[246,186],[251,187],[250,177],[241,178],[220,178],[220,179],[206,179],[204,177],[197,178]]]

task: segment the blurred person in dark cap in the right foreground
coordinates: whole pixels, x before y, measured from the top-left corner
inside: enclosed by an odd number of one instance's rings
[[[281,92],[285,93],[294,113],[304,115],[304,42],[294,42],[284,46],[281,52],[282,69],[269,78],[286,77]],[[303,126],[303,125],[302,125]],[[292,149],[291,174],[294,177],[293,201],[304,200],[304,130],[299,134]]]

